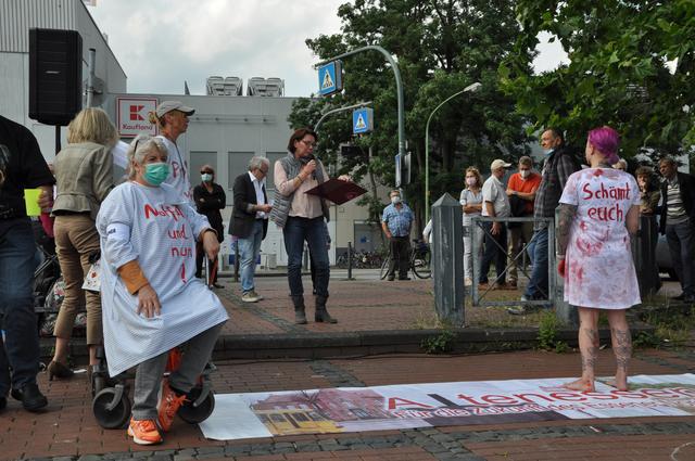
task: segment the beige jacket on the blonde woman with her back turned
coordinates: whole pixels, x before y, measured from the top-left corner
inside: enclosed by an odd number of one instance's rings
[[[114,187],[111,148],[93,142],[67,144],[55,156],[53,168],[58,190],[53,213],[89,212],[96,220]]]

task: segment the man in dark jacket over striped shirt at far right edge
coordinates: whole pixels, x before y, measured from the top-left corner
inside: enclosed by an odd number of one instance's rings
[[[677,170],[673,158],[661,158],[661,219],[659,230],[666,234],[673,269],[683,293],[675,300],[695,303],[695,177]]]

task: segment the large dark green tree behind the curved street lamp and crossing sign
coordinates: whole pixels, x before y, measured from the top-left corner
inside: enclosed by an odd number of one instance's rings
[[[306,43],[319,60],[367,44],[379,44],[396,57],[404,82],[406,140],[414,155],[413,183],[406,188],[406,197],[418,215],[425,206],[425,124],[431,111],[456,91],[475,81],[483,84],[479,94],[462,95],[442,107],[430,125],[431,197],[443,192],[457,195],[465,166],[478,165],[486,171],[492,158],[515,159],[527,152],[523,119],[515,113],[514,100],[498,88],[497,68],[519,33],[509,2],[356,0],[341,5],[338,15],[341,34],[307,39]],[[357,178],[372,175],[380,183],[392,185],[397,152],[392,71],[377,52],[350,56],[343,67],[344,91],[311,103],[298,102],[291,120],[307,124],[312,111],[315,115],[357,101],[374,101],[375,131],[353,140],[371,148],[374,155],[368,164],[346,167],[356,167]],[[329,152],[337,152],[340,142],[351,139],[346,120],[334,117],[321,126],[321,155],[330,157]],[[377,196],[371,196],[370,203],[374,210],[381,206]]]

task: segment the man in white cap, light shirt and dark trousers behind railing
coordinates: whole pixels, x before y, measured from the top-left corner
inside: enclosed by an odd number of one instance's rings
[[[505,169],[511,164],[497,158],[490,165],[490,178],[482,184],[482,216],[491,218],[506,218],[511,215],[509,197],[502,183]],[[480,265],[480,289],[488,290],[488,272],[490,264],[494,261],[497,278],[495,279],[497,289],[506,289],[504,271],[507,267],[507,227],[504,222],[483,222],[485,231],[485,253],[482,255]],[[490,239],[492,235],[492,239]],[[495,283],[491,285],[494,287]]]

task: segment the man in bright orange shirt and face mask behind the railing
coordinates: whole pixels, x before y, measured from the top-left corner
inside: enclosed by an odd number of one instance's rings
[[[511,204],[511,216],[533,217],[535,191],[541,183],[541,175],[533,172],[533,159],[525,155],[519,158],[519,171],[509,177],[507,196]],[[533,221],[510,222],[509,230],[509,286],[517,287],[517,257],[521,252],[521,243],[527,245],[533,235]]]

